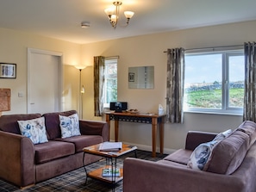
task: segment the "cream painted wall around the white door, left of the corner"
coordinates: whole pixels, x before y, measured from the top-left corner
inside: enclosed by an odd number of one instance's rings
[[[2,45],[0,47],[0,62],[15,63],[17,66],[16,79],[0,78],[0,88],[11,89],[11,110],[3,112],[3,115],[27,113],[28,48],[63,53],[64,65],[80,64],[81,45],[79,44],[5,28],[0,28],[0,42]],[[64,68],[64,74],[67,76],[64,77],[65,91],[72,91],[72,95],[67,95],[67,92],[64,92],[66,96],[64,109],[78,109],[78,99],[75,96],[78,87],[71,85],[78,82],[78,71],[75,70],[74,67]],[[18,97],[18,93],[22,93],[23,96]]]

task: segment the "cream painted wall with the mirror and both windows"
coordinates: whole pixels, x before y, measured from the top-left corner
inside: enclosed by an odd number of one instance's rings
[[[117,29],[118,30],[118,29]],[[167,48],[201,48],[211,46],[243,45],[245,41],[256,39],[256,21],[240,22],[206,28],[192,28],[162,34],[149,34],[119,40],[108,40],[82,46],[82,61],[93,65],[93,56],[116,56],[118,61],[118,100],[128,102],[128,108],[141,112],[156,113],[158,105],[165,106],[165,77]],[[128,67],[153,65],[155,69],[155,88],[153,90],[128,89]],[[93,68],[86,68],[93,73]],[[196,74],[195,74],[196,75]],[[87,80],[86,80],[87,81]],[[84,82],[87,87],[87,108],[85,119],[93,117],[93,81]],[[84,97],[85,98],[85,97]],[[86,105],[86,106],[85,106]],[[89,108],[89,109],[88,109]],[[104,117],[103,117],[104,120]],[[184,124],[165,123],[165,152],[184,147],[189,130],[221,132],[236,128],[242,122],[241,115],[184,114]],[[110,139],[114,139],[114,123],[111,123]],[[120,123],[119,138],[142,149],[151,150],[151,126],[139,123]],[[159,141],[158,141],[159,142]]]

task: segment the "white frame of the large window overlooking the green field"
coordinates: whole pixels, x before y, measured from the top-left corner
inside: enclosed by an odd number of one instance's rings
[[[234,49],[223,48],[220,50],[209,50],[209,49],[200,49],[200,50],[190,50],[186,51],[184,58],[188,55],[209,55],[209,54],[222,54],[222,108],[190,108],[186,106],[184,102],[184,112],[191,113],[203,113],[203,114],[226,114],[226,115],[242,115],[243,107],[234,108],[228,106],[229,103],[229,58],[231,56],[244,56],[243,48],[236,47]],[[184,69],[186,70],[186,69]],[[185,81],[185,77],[184,77]],[[185,87],[184,87],[185,89]],[[185,90],[184,90],[185,94]]]

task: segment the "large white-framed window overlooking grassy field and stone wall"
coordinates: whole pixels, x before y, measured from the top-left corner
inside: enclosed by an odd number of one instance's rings
[[[186,53],[184,111],[241,114],[244,53]]]

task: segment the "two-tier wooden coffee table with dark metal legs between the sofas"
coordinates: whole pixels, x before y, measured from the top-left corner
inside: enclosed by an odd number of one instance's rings
[[[87,182],[87,178],[91,177],[106,183],[111,183],[114,185],[114,190],[115,190],[115,184],[122,181],[123,178],[123,170],[122,168],[120,168],[120,176],[117,177],[116,176],[116,172],[114,171],[114,174],[112,174],[112,177],[103,177],[103,168],[107,168],[109,167],[109,169],[112,170],[116,170],[116,159],[122,157],[122,155],[127,154],[128,152],[134,152],[135,157],[137,158],[137,154],[136,154],[136,150],[137,147],[136,146],[130,146],[127,144],[122,144],[122,149],[116,152],[103,152],[103,151],[99,151],[99,146],[101,144],[97,144],[94,146],[88,146],[88,147],[84,147],[83,151],[84,151],[84,156],[86,153],[89,154],[93,154],[93,155],[97,155],[103,158],[106,158],[106,165],[98,168],[97,170],[92,170],[91,172],[87,172],[86,170],[86,166],[84,165],[84,170],[85,170],[85,174],[86,174],[86,181]],[[84,163],[84,156],[83,156],[83,163]]]

